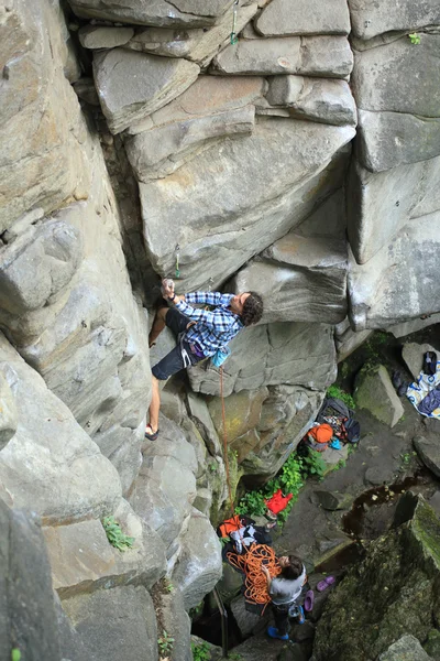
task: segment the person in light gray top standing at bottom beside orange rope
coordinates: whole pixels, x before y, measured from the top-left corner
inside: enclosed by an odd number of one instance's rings
[[[262,565],[275,618],[275,627],[268,627],[267,635],[271,638],[288,640],[289,616],[297,617],[300,625],[305,621],[302,606],[297,605],[297,600],[307,582],[307,575],[306,567],[297,555],[283,555],[278,557],[278,563],[282,573],[275,578],[271,578],[267,567]]]

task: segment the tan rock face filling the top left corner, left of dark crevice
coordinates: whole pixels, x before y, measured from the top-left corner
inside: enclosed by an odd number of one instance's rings
[[[57,7],[41,0],[8,6],[0,44],[2,234],[30,209],[50,213],[84,197],[89,171],[85,118],[64,73],[68,54]]]

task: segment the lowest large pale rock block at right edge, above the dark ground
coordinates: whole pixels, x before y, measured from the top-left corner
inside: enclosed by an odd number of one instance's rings
[[[439,227],[440,214],[430,214],[406,225],[366,264],[351,260],[348,289],[355,330],[386,328],[440,310],[436,284]]]

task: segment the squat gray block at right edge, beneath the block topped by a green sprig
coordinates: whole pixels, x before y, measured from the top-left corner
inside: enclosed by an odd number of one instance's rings
[[[440,119],[403,112],[358,111],[359,159],[371,172],[440,154]]]

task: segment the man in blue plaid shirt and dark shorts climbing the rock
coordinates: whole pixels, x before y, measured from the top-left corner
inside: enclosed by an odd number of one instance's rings
[[[165,381],[180,369],[196,365],[224,348],[245,326],[260,322],[263,314],[263,301],[255,292],[242,294],[221,294],[220,292],[195,292],[177,295],[174,282],[162,282],[164,299],[170,307],[161,306],[154,317],[148,336],[150,347],[168,326],[178,339],[177,346],[152,369],[152,401],[150,422],[145,437],[155,441],[158,435],[158,412],[161,395],[158,382]],[[191,303],[215,306],[213,311],[193,307]]]

